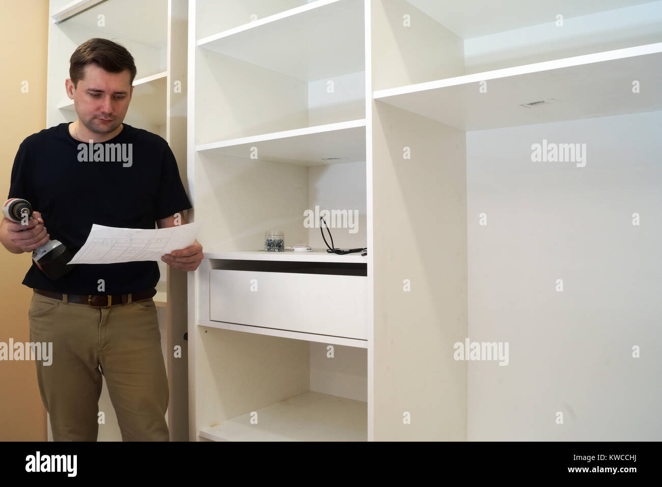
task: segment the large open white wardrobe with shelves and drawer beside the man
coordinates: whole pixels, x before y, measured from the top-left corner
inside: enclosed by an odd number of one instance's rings
[[[188,17],[191,441],[660,439],[662,1]]]

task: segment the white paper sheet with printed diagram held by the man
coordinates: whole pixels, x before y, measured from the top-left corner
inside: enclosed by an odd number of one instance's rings
[[[161,260],[161,256],[193,244],[202,223],[193,222],[167,229],[124,229],[92,225],[87,241],[70,264],[114,264]]]

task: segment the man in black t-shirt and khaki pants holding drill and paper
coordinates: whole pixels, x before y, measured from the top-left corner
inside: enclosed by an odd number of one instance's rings
[[[3,219],[0,241],[7,250],[31,252],[56,239],[73,255],[93,223],[136,229],[187,223],[183,210],[191,203],[167,142],[122,123],[135,76],[131,54],[110,40],[93,38],[73,52],[66,91],[78,120],[30,135],[19,146],[8,198],[26,199],[38,211],[28,225]],[[85,158],[89,140],[114,144],[122,158]],[[196,241],[162,260],[193,271],[202,257]],[[158,263],[71,267],[50,280],[32,262],[23,280],[34,290],[30,342],[52,343],[52,363],[37,361],[36,367],[54,440],[97,440],[103,374],[122,439],[168,441],[167,376],[152,299]]]

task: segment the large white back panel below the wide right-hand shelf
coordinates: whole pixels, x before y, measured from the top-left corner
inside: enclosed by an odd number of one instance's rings
[[[469,338],[509,343],[507,366],[469,362],[469,441],[662,439],[659,127],[662,112],[467,133]],[[586,166],[532,162],[543,138],[585,143]]]

